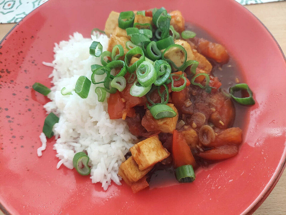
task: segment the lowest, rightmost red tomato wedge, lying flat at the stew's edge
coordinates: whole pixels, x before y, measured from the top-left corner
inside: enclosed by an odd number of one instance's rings
[[[199,157],[207,160],[222,160],[231,158],[238,153],[237,145],[222,145],[211,150],[204,151],[198,154]]]

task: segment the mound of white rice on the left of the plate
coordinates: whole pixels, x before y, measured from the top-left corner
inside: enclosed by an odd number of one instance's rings
[[[107,49],[108,37],[105,35],[91,36],[99,41],[103,51]],[[69,41],[55,44],[54,61],[44,63],[54,67],[52,74],[52,92],[48,97],[52,102],[44,105],[47,113],[53,112],[59,116],[59,122],[54,126],[57,139],[54,149],[60,159],[57,168],[63,164],[72,169],[74,154],[87,152],[91,166],[91,181],[101,182],[107,190],[111,180],[121,185],[121,178],[117,175],[118,168],[125,161],[124,155],[133,145],[136,137],[128,131],[126,122],[122,119],[111,120],[107,113],[107,102],[98,102],[94,92],[95,87],[103,86],[91,84],[87,99],[82,99],[74,91],[72,95],[63,96],[60,90],[66,87],[66,92],[72,91],[77,79],[84,75],[91,77],[91,65],[100,64],[100,58],[89,55],[92,40],[83,38],[80,33],[74,33]],[[45,140],[41,138],[43,146],[39,148],[39,156],[45,148]]]

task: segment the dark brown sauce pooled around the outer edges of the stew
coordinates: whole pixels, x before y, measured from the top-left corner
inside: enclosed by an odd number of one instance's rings
[[[213,38],[209,33],[207,33],[202,28],[197,27],[193,24],[187,23],[185,29],[195,32],[198,38],[204,38],[211,42],[217,42],[217,40]],[[221,86],[222,89],[229,92],[229,88],[237,84],[236,79],[238,79],[240,83],[245,83],[243,75],[240,73],[239,67],[235,62],[235,60],[232,58],[232,56],[230,56],[229,62],[227,64],[218,64],[212,59],[208,60],[212,63],[213,66],[212,69],[213,75],[218,77],[220,82],[222,83]],[[247,111],[247,107],[239,105],[236,102],[234,102],[234,106],[235,106],[235,119],[232,127],[240,127],[244,131],[243,128],[245,125],[245,115],[246,115],[245,113]],[[202,163],[200,162],[200,164],[201,166],[207,166],[207,162],[202,161]],[[150,178],[148,181],[150,189],[158,187],[166,187],[177,183],[177,180],[175,178],[174,168],[172,166],[163,167],[161,164],[158,164],[155,166],[153,171],[150,172],[149,175]]]

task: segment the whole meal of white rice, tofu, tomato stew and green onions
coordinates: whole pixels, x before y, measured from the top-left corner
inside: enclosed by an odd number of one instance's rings
[[[51,99],[38,155],[55,136],[57,168],[105,190],[123,179],[136,193],[158,168],[192,182],[200,165],[239,153],[234,102],[254,105],[253,94],[245,83],[222,87],[226,48],[188,30],[180,11],[112,11],[104,31],[74,33],[54,52],[44,63],[54,86],[33,88]]]

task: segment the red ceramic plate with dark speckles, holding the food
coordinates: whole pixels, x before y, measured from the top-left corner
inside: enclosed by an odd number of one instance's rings
[[[240,153],[199,169],[195,182],[133,194],[125,184],[103,191],[88,177],[56,169],[54,139],[38,157],[46,103],[32,90],[50,86],[54,42],[78,31],[89,37],[111,10],[181,10],[239,63],[256,104],[248,109]],[[6,214],[251,214],[285,168],[285,58],[275,39],[248,10],[231,0],[50,0],[30,13],[0,45],[0,202]]]

